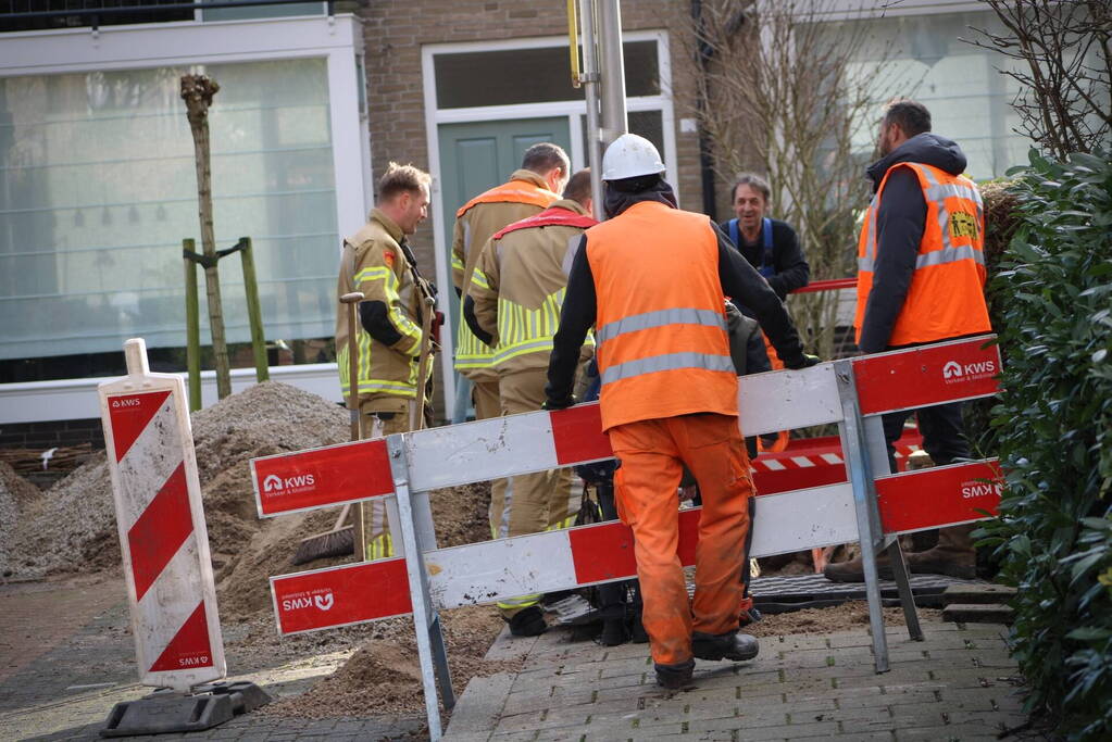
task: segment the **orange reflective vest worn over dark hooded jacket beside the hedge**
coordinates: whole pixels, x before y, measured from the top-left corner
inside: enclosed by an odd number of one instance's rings
[[[903,309],[896,318],[890,345],[934,342],[990,332],[984,301],[984,205],[972,180],[952,176],[921,162],[892,166],[876,190],[857,241],[857,342],[865,305],[873,289],[876,260],[876,212],[888,176],[910,168],[926,201],[926,223],[919,244],[915,272]]]

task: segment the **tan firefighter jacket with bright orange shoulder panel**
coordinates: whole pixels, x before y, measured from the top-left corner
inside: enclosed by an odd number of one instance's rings
[[[456,212],[451,245],[451,278],[456,289],[463,291],[468,283],[487,285],[486,275],[476,270],[487,240],[507,224],[546,209],[558,198],[537,173],[516,170],[508,182],[464,204]],[[464,375],[474,380],[495,378],[494,351],[476,338],[461,319],[456,331],[455,355],[456,370]]]

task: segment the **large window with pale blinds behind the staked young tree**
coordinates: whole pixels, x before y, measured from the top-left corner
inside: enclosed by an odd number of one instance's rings
[[[118,351],[129,337],[185,344],[182,238],[200,249],[186,71],[0,80],[0,359]],[[220,83],[218,247],[252,238],[268,338],[330,335],[338,237],[325,60],[203,71]],[[238,255],[220,274],[229,340],[247,341]]]

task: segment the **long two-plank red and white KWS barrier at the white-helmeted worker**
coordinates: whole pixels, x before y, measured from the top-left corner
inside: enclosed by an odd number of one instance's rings
[[[887,645],[874,550],[894,550],[909,630],[921,638],[898,545],[890,544],[898,533],[976,521],[994,512],[1000,473],[994,461],[981,461],[890,474],[876,415],[996,393],[1000,354],[991,340],[953,341],[741,380],[738,405],[747,435],[838,424],[842,453],[821,451],[817,457],[828,469],[842,464],[847,481],[763,495],[752,553],[847,541],[868,544],[863,550],[866,594],[878,672],[887,670]],[[399,510],[400,533],[395,538],[404,558],[271,578],[279,632],[411,611],[429,729],[436,738],[434,664],[441,694],[453,698],[439,609],[623,580],[635,569],[632,534],[616,522],[437,549],[427,492],[609,458],[613,451],[602,433],[598,405],[592,403],[252,460],[260,517],[391,495]],[[801,470],[817,469],[794,463]],[[810,457],[807,463],[814,463]],[[679,555],[685,564],[694,560],[698,518],[698,509],[681,513]]]

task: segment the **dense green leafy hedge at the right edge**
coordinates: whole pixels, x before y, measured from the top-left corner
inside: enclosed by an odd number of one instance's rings
[[[995,545],[1017,589],[1029,710],[1069,739],[1112,738],[1112,163],[1031,152],[990,292],[1005,391],[992,428],[1006,487]]]

